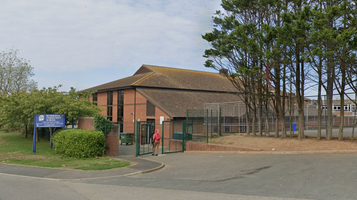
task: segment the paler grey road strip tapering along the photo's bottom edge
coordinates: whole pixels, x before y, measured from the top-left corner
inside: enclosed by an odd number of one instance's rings
[[[154,182],[152,182],[155,185]],[[43,180],[0,174],[1,200],[301,200],[159,188],[88,184],[73,181]]]

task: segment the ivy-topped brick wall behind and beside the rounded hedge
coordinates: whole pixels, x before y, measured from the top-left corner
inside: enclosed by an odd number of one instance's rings
[[[94,130],[93,117],[79,117],[78,128]],[[105,151],[107,156],[119,155],[119,125],[113,123],[113,128],[105,138],[105,144],[108,146],[108,149]]]

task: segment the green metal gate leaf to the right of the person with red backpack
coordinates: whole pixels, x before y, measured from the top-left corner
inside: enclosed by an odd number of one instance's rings
[[[161,138],[162,154],[185,151],[186,121],[163,121]]]

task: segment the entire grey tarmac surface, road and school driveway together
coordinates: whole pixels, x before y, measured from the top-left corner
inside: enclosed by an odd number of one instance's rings
[[[357,154],[168,154],[154,173],[87,181],[0,174],[0,199],[355,200]]]

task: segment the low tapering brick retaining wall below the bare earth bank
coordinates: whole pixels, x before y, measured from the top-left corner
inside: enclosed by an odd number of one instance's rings
[[[186,142],[186,151],[261,151],[260,149],[232,147],[222,144],[210,144],[201,142]]]

